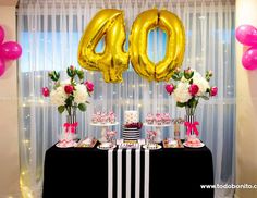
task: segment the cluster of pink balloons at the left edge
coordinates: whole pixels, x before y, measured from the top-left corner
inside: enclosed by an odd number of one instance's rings
[[[15,41],[5,41],[4,29],[0,26],[0,76],[5,72],[5,61],[16,60],[22,54],[22,47]]]

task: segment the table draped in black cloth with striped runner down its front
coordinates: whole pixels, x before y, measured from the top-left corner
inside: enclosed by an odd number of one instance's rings
[[[211,198],[213,189],[200,188],[211,184],[212,156],[207,147],[108,151],[52,146],[45,157],[42,197]]]

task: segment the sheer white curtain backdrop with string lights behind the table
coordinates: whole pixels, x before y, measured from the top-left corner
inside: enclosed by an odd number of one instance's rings
[[[201,101],[197,109],[200,138],[211,149],[216,184],[234,182],[233,1],[20,0],[17,29],[19,41],[23,47],[19,65],[20,153],[21,185],[26,197],[40,197],[45,151],[57,143],[61,124],[65,121],[65,115],[60,115],[57,107],[52,107],[40,95],[41,87],[50,85],[48,72],[61,71],[64,78],[68,66],[73,64],[79,67],[76,55],[79,38],[97,11],[107,8],[123,10],[128,37],[135,17],[154,7],[166,8],[178,14],[185,26],[183,69],[191,66],[201,74],[207,70],[215,73],[211,84],[219,87],[219,95],[207,102]],[[100,42],[98,48],[103,45]],[[164,52],[166,35],[155,29],[148,37],[148,55],[157,62]],[[99,128],[89,126],[90,115],[97,110],[113,110],[120,123],[123,123],[125,110],[138,110],[140,121],[145,120],[148,112],[169,112],[172,117],[184,116],[184,110],[176,108],[172,97],[168,97],[166,83],[148,83],[132,66],[123,74],[124,82],[120,84],[106,84],[97,72],[85,71],[85,74],[86,79],[94,82],[95,92],[86,113],[77,112],[82,138],[99,137]],[[121,132],[120,126],[114,128]],[[181,132],[184,134],[183,127]],[[173,136],[173,127],[163,129],[163,137],[168,136]],[[217,190],[216,197],[231,197],[232,193]]]

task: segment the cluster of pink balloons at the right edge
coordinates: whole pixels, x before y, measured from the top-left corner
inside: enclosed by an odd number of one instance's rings
[[[249,46],[242,57],[242,64],[246,70],[257,69],[257,29],[252,25],[241,25],[235,30],[236,39]]]

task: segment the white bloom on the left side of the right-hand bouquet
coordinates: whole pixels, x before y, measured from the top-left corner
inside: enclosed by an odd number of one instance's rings
[[[175,90],[174,97],[178,102],[184,103],[187,102],[192,96],[188,91],[189,84],[188,83],[179,83]]]

